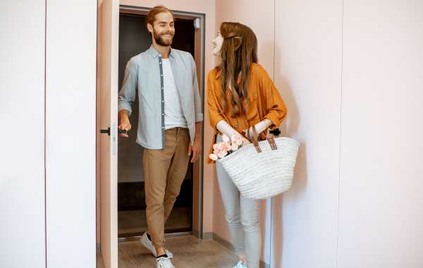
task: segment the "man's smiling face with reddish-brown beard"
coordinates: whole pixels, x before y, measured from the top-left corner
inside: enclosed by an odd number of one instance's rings
[[[162,12],[156,15],[154,25],[147,25],[157,44],[168,47],[172,45],[173,35],[175,35],[175,22],[171,13]]]

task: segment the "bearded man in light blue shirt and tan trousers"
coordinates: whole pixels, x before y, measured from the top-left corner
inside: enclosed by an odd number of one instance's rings
[[[173,268],[173,254],[164,248],[164,223],[179,195],[191,154],[191,162],[200,157],[203,115],[194,59],[188,52],[171,49],[175,34],[171,11],[164,6],[152,8],[147,30],[152,46],[126,66],[118,97],[118,128],[131,128],[129,116],[137,88],[137,143],[144,147],[148,225],[141,243],[152,251],[158,268]]]

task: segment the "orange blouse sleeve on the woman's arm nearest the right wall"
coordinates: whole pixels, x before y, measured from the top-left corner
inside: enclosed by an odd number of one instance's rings
[[[264,118],[268,118],[271,121],[271,128],[274,129],[278,128],[283,119],[286,117],[287,109],[281,94],[278,92],[278,89],[269,77],[269,74],[264,70],[264,68],[262,71],[264,74],[261,75],[261,84],[265,95],[264,99],[266,99],[266,104],[263,107],[266,111]]]

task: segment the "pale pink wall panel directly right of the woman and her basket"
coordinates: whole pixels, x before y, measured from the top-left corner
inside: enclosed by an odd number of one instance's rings
[[[274,198],[273,267],[336,264],[341,1],[276,1],[275,82],[284,133],[301,142],[293,188]]]

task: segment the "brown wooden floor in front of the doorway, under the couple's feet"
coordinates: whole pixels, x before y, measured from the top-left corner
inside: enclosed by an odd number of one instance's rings
[[[173,252],[176,268],[232,268],[238,257],[214,240],[199,241],[192,236],[168,238],[166,247]],[[156,267],[154,257],[139,241],[118,245],[119,268]],[[97,255],[97,268],[104,268],[101,256]]]

